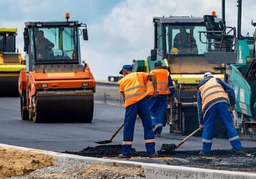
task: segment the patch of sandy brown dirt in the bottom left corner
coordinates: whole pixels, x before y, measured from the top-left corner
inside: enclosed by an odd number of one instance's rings
[[[0,148],[0,179],[22,176],[53,165],[52,157],[33,152]]]

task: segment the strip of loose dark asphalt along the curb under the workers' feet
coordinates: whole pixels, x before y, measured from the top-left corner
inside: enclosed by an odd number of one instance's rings
[[[209,156],[199,156],[198,150],[194,151],[175,151],[174,144],[163,144],[158,151],[158,158],[149,159],[146,152],[137,152],[134,148],[131,150],[131,159],[129,161],[139,161],[144,163],[157,163],[165,165],[180,165],[186,167],[208,168],[216,170],[256,172],[256,147],[243,148],[245,155],[237,156],[233,149],[230,150],[212,150]],[[117,155],[122,153],[122,145],[99,145],[87,147],[79,152],[69,152],[74,155],[90,157],[107,157],[117,159]]]

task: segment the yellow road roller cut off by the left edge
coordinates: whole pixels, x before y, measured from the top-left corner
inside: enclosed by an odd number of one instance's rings
[[[17,28],[0,28],[0,96],[18,96],[19,72],[25,58],[16,48]]]

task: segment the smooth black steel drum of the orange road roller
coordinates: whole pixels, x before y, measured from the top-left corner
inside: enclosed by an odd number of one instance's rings
[[[93,94],[36,96],[34,122],[91,122]]]

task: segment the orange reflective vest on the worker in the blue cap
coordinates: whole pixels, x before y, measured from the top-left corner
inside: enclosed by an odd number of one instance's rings
[[[118,84],[124,89],[125,103],[124,107],[130,106],[153,92],[151,81],[144,79],[144,72],[133,72],[124,76],[118,81]],[[144,76],[143,76],[144,75]]]

